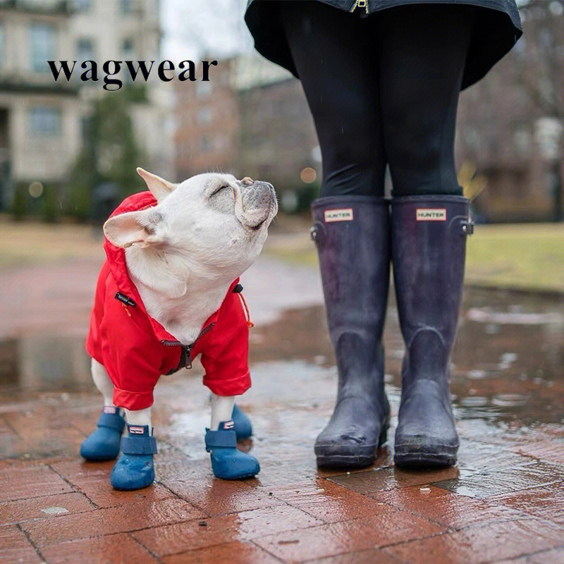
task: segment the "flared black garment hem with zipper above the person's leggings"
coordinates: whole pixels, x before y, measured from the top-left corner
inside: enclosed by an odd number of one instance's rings
[[[319,1],[345,11],[351,11],[357,4],[357,0]],[[357,7],[355,12],[360,16],[369,16],[406,4],[467,4],[479,8],[461,90],[483,78],[522,35],[521,19],[515,0],[367,0],[367,8]],[[278,1],[248,0],[245,23],[255,39],[257,51],[300,78],[278,17]]]

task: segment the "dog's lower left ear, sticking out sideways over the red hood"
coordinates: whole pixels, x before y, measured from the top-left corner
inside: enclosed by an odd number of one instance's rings
[[[162,243],[162,238],[157,235],[157,225],[162,216],[153,209],[140,212],[126,212],[111,217],[104,223],[104,235],[110,243],[126,249],[135,245],[149,247]]]

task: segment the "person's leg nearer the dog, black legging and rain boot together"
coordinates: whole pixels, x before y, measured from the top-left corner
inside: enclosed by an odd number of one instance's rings
[[[374,462],[386,440],[381,336],[389,281],[389,218],[374,54],[367,22],[319,2],[281,3],[281,19],[317,128],[321,198],[313,202],[336,407],[315,443],[321,466]]]

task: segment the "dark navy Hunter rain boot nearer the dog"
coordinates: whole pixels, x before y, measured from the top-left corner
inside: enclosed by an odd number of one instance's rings
[[[384,198],[330,196],[312,204],[338,391],[315,442],[317,465],[360,467],[386,442],[390,406],[381,344],[389,285],[389,209]]]

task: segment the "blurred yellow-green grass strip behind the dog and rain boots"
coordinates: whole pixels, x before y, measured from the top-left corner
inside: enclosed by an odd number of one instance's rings
[[[291,221],[290,221],[291,220]],[[265,254],[317,268],[309,220],[281,219]],[[0,216],[0,267],[100,260],[102,240],[90,226],[13,222]],[[467,283],[564,292],[564,223],[479,225],[468,238]]]

